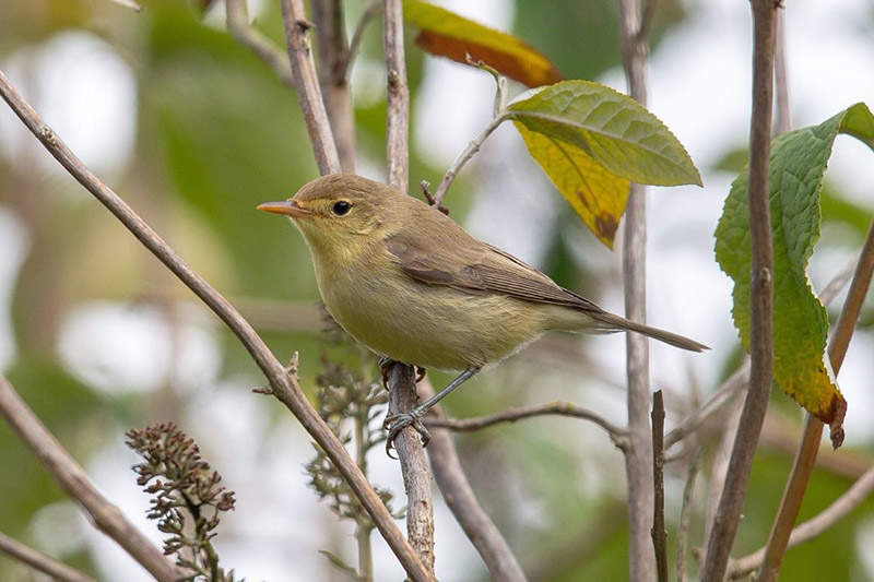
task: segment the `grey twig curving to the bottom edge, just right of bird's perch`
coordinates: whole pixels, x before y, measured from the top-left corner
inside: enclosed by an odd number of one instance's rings
[[[424,399],[434,395],[427,378],[420,383],[420,390]],[[430,414],[437,415],[440,420],[445,419],[440,406],[432,408]],[[437,428],[432,431],[428,459],[434,471],[434,480],[437,482],[449,511],[480,553],[492,579],[503,582],[524,582],[525,575],[516,556],[495,526],[495,522],[476,500],[448,430]]]

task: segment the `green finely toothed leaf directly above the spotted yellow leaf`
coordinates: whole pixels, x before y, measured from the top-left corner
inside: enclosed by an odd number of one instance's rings
[[[639,183],[700,186],[683,144],[643,106],[591,81],[530,90],[507,106],[532,132],[575,145],[611,174]]]

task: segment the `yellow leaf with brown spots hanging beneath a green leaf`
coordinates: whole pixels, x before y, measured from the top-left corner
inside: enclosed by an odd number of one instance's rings
[[[576,145],[513,121],[528,151],[586,225],[610,248],[628,200],[630,182],[595,164]]]

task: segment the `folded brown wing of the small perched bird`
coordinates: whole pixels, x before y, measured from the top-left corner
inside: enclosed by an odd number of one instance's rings
[[[464,234],[466,235],[466,233]],[[497,293],[538,304],[602,312],[593,302],[558,286],[553,280],[512,254],[464,236],[463,249],[447,253],[442,241],[423,244],[404,234],[387,240],[389,252],[409,276],[430,285],[446,285],[470,293]]]

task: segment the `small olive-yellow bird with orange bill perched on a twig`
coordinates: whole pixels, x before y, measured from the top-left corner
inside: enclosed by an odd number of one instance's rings
[[[322,176],[258,210],[287,216],[300,231],[324,306],[352,337],[386,361],[461,372],[423,404],[387,417],[388,451],[406,426],[426,446],[428,409],[546,332],[629,331],[708,349],[605,311],[436,207],[354,174]]]

